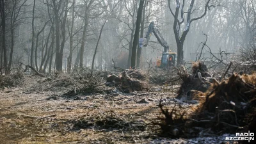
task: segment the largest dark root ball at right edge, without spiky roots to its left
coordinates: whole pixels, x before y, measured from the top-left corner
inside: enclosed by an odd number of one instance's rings
[[[229,79],[214,81],[195,110],[195,119],[206,122],[217,132],[256,132],[256,74],[233,74]]]

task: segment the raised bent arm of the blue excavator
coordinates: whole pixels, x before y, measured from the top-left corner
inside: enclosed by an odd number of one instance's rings
[[[156,39],[158,40],[158,42],[164,47],[164,51],[163,52],[168,52],[169,46],[168,46],[167,42],[164,40],[164,38],[161,35],[161,33],[154,26],[154,22],[151,22],[149,24],[149,26],[148,26],[148,31],[147,31],[147,34],[146,34],[146,36],[144,38],[144,46],[147,47],[152,33],[154,33],[154,35],[156,36]]]

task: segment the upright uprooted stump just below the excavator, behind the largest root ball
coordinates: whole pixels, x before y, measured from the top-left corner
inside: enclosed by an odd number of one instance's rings
[[[176,68],[177,74],[182,79],[182,84],[177,92],[177,99],[186,97],[187,99],[193,99],[193,93],[195,90],[200,92],[206,92],[212,81],[212,76],[208,72],[206,65],[202,61],[196,61],[192,65],[191,74],[188,73],[186,68]]]

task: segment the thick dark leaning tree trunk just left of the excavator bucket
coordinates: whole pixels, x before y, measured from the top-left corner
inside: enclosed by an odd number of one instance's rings
[[[135,64],[136,64],[136,47],[138,46],[138,41],[139,41],[139,36],[140,36],[140,23],[141,23],[143,4],[144,4],[144,0],[141,0],[140,6],[138,8],[136,29],[135,29],[133,44],[132,44],[132,56],[131,56],[131,67],[132,68],[135,68]]]

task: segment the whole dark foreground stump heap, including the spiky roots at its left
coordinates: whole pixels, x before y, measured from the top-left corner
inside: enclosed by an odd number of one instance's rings
[[[213,81],[206,92],[195,91],[200,104],[180,113],[159,108],[162,134],[170,137],[200,136],[204,129],[214,134],[256,132],[256,74],[233,74],[221,82]],[[186,116],[186,117],[185,117]],[[200,128],[198,131],[198,128]]]

